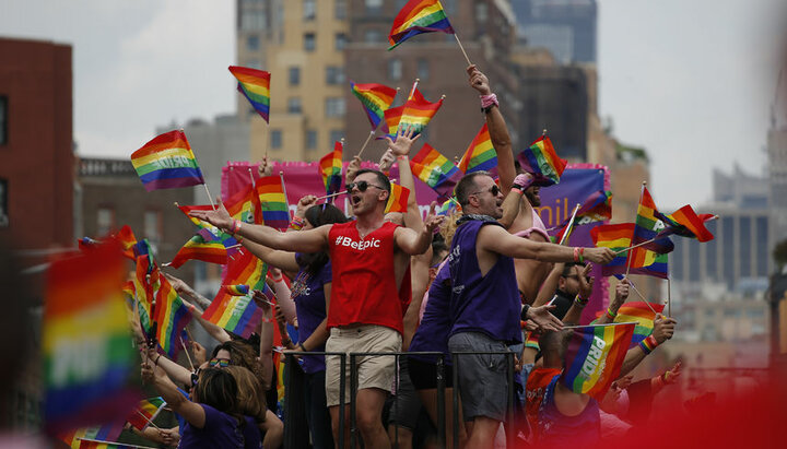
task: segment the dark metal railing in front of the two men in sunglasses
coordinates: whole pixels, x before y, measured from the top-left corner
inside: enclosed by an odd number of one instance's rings
[[[437,357],[437,371],[436,371],[436,381],[437,381],[437,423],[434,423],[437,427],[437,438],[439,440],[439,444],[442,447],[446,447],[446,410],[445,410],[445,389],[446,389],[446,379],[445,379],[445,354],[438,353],[438,352],[368,352],[368,353],[339,353],[339,352],[298,352],[298,353],[284,353],[284,447],[285,448],[292,448],[293,447],[293,440],[294,440],[294,429],[292,425],[292,394],[287,394],[287,391],[290,391],[291,387],[291,379],[293,377],[293,367],[295,366],[294,357],[296,356],[303,356],[303,355],[322,355],[322,356],[338,356],[340,358],[340,371],[339,371],[339,447],[344,447],[344,395],[346,392],[346,361],[348,357],[350,358],[350,447],[356,448],[357,447],[357,437],[359,437],[359,429],[356,425],[356,418],[355,418],[355,402],[356,402],[356,394],[357,394],[357,369],[356,369],[356,362],[359,357],[395,357],[396,359],[396,374],[395,374],[395,385],[396,385],[396,391],[399,391],[399,357],[401,356],[410,356],[410,355],[420,355],[420,356],[433,356]],[[507,370],[507,378],[508,378],[508,387],[507,387],[507,416],[506,421],[504,423],[504,428],[506,433],[506,447],[513,448],[516,444],[516,428],[514,425],[514,369],[515,369],[515,361],[514,361],[514,352],[510,351],[497,351],[497,352],[486,352],[486,351],[461,351],[461,352],[451,352],[451,359],[454,362],[454,370],[453,370],[453,385],[454,385],[454,391],[453,391],[453,447],[459,448],[459,426],[462,423],[459,423],[459,358],[461,356],[468,356],[468,355],[504,355],[506,357],[506,370]],[[391,410],[397,411],[398,406],[398,397],[397,394],[393,395],[393,405]],[[395,435],[393,435],[393,445],[399,445],[399,426],[396,426]]]

